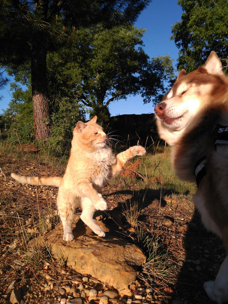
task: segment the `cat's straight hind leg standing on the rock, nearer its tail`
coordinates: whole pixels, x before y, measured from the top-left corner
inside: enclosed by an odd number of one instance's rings
[[[76,197],[69,189],[59,188],[57,195],[57,208],[63,224],[63,240],[72,241],[72,220],[75,211]]]

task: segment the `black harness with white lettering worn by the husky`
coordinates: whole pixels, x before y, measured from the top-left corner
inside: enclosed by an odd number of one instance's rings
[[[217,150],[217,145],[227,145],[228,144],[228,126],[216,124],[214,130],[212,131],[212,136],[214,138],[215,150]],[[195,181],[197,188],[199,187],[199,183],[202,178],[206,175],[207,156],[204,155],[195,163]]]

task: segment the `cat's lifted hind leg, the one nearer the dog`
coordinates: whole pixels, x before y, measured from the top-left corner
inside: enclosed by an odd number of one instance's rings
[[[104,231],[95,223],[93,219],[93,214],[95,212],[95,207],[93,206],[90,199],[84,197],[81,199],[81,220],[99,237],[105,237]]]

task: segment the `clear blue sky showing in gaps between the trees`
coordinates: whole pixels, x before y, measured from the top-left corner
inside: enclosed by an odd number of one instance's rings
[[[147,32],[143,35],[144,50],[151,57],[169,54],[174,59],[178,58],[178,49],[174,41],[170,41],[171,25],[181,20],[182,9],[177,5],[177,0],[153,0],[140,14],[135,25]],[[0,113],[6,109],[10,100],[9,86],[0,91],[4,98],[0,101]],[[121,114],[142,114],[154,112],[152,103],[143,105],[141,96],[129,96],[127,100],[112,102],[109,105],[111,116]]]

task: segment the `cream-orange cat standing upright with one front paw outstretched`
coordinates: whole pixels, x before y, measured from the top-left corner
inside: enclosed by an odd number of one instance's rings
[[[82,221],[99,237],[105,236],[93,220],[95,210],[107,209],[100,192],[130,158],[145,154],[143,147],[133,146],[115,156],[108,145],[107,135],[96,119],[95,116],[87,123],[79,121],[74,128],[71,155],[63,178],[28,177],[11,173],[11,177],[19,183],[59,187],[57,208],[63,223],[63,239],[66,241],[74,239],[71,224],[76,206],[82,208]]]

